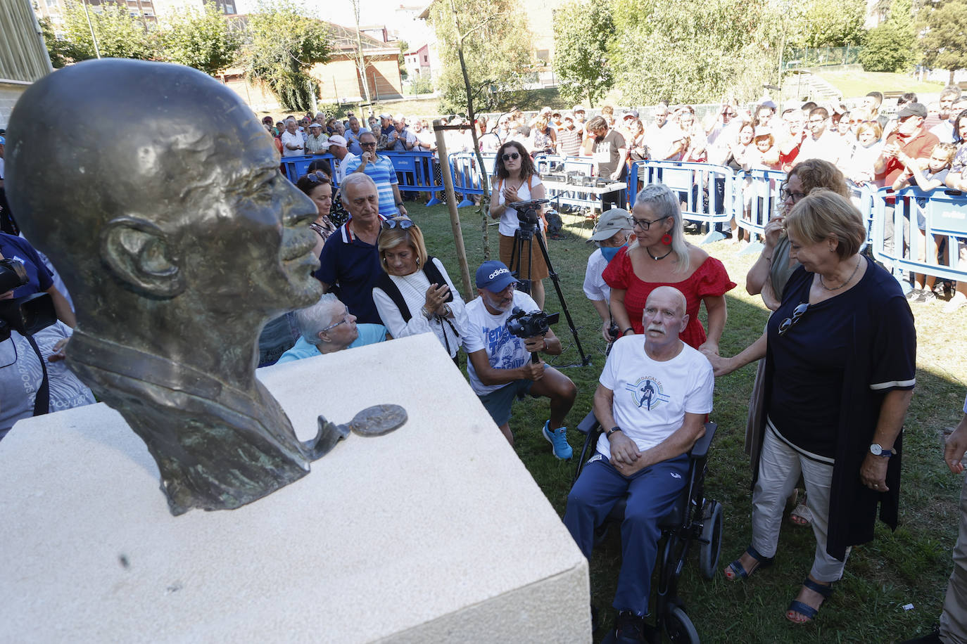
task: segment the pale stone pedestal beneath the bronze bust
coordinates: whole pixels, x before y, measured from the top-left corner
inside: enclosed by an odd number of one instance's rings
[[[0,640],[591,640],[587,562],[435,338],[259,378],[302,439],[320,413],[396,403],[409,421],[177,518],[114,410],[21,421],[0,442]]]

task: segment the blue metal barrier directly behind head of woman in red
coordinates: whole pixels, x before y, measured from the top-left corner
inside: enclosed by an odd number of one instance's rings
[[[724,238],[715,229],[735,213],[735,175],[730,168],[692,161],[635,161],[629,176],[630,205],[647,183],[663,183],[678,192],[682,217],[709,227],[702,243]]]

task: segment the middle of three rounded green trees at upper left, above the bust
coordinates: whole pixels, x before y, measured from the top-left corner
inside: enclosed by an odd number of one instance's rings
[[[211,2],[201,13],[183,10],[168,14],[161,30],[164,60],[215,74],[235,62],[242,35]]]

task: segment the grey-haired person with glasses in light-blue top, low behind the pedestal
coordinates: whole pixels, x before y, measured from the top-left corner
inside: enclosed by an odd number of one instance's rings
[[[276,364],[386,340],[385,326],[357,324],[356,316],[331,293],[323,294],[312,306],[296,311],[295,320],[300,337],[292,349],[282,353]]]

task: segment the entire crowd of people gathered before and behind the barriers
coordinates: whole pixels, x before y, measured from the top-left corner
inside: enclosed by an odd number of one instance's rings
[[[740,581],[773,562],[784,508],[802,484],[808,513],[800,524],[815,536],[814,560],[786,617],[812,621],[842,576],[851,546],[873,539],[877,513],[896,525],[902,425],[916,383],[908,299],[929,298],[936,286],[915,278],[913,296],[904,296],[893,276],[861,253],[865,218],[848,198],[847,181],[929,190],[963,189],[967,180],[967,104],[959,91],[944,91],[932,124],[914,96],[904,98],[894,119],[879,114],[881,103],[882,96],[871,93],[851,110],[806,104],[779,115],[771,101],[749,112],[726,101],[706,125],[688,105],[662,104],[647,126],[635,111],[618,120],[607,107],[585,120],[587,110],[575,105],[567,112],[544,108],[526,125],[515,113],[477,124],[480,145],[497,155],[489,214],[499,220],[500,260],[476,268],[476,297],[466,302],[409,216],[392,161],[382,154],[433,152],[425,123],[410,126],[389,114],[372,116],[365,126],[352,114],[345,122],[317,114],[273,124],[267,117],[264,126],[279,154],[332,154],[335,164],[319,159],[295,183],[315,209],[308,229],[319,261],[314,276],[325,294],[265,327],[260,363],[431,333],[457,365],[460,353],[466,356],[471,388],[512,445],[513,406],[528,396],[548,399],[540,433],[555,458],[569,460],[567,419],[577,388],[542,359],[560,354],[562,343],[552,329],[528,332],[520,330],[528,325],[510,323],[542,313],[542,279],[548,276],[537,244],[531,258],[517,258],[526,271],[509,266],[519,252],[521,226],[512,204],[544,196],[533,156],[589,156],[600,176],[614,180],[640,159],[782,170],[782,203],[746,277],[747,291],[761,294],[773,314],[762,336],[732,357],[720,355],[719,341],[728,323],[725,294],[736,283],[721,262],[689,243],[680,195],[653,183],[637,192],[630,210],[605,199],[592,234],[600,247],[588,259],[584,280],[611,349],[594,396],[604,431],[571,490],[564,522],[591,557],[595,529],[627,497],[615,636],[648,641],[658,520],[687,484],[687,454],[712,411],[715,378],[758,362],[747,421],[754,482],[750,545],[723,574]],[[2,174],[0,166],[0,181]],[[542,236],[540,219],[538,228]],[[902,234],[896,236],[900,243]],[[53,369],[74,324],[69,294],[56,286],[53,267],[15,235],[0,234],[0,252],[20,261],[29,276],[0,298],[46,292],[59,318],[48,327],[49,337],[38,337],[36,361],[45,359],[49,373],[24,367],[34,374],[27,379],[19,376],[22,370],[0,370],[2,437],[34,412],[42,378],[51,385],[51,409],[89,404],[93,396],[69,371]],[[967,300],[967,285],[956,290],[950,310]],[[0,343],[0,356],[9,353],[11,365],[32,359],[24,343],[12,336]],[[23,404],[8,405],[14,398]],[[961,429],[948,449],[952,471],[961,467],[965,448]],[[967,544],[965,526],[960,541]],[[964,547],[958,546],[945,605],[941,635],[948,639],[938,641],[967,637]]]

